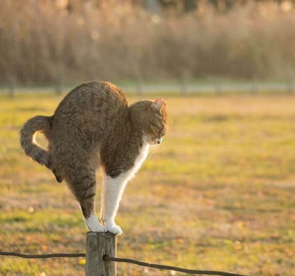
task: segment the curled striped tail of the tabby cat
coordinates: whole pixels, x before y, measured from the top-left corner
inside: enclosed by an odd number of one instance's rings
[[[37,143],[35,135],[41,131],[47,137],[51,129],[51,119],[52,117],[35,116],[26,121],[20,130],[20,144],[24,153],[36,162],[47,166],[48,169],[51,169],[50,155],[45,148]]]

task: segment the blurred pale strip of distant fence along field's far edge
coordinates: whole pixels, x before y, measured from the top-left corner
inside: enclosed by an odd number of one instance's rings
[[[260,93],[281,93],[281,94],[292,94],[295,92],[295,83],[291,78],[286,78],[285,81],[279,83],[273,82],[262,82],[257,79],[252,81],[239,83],[239,82],[223,82],[222,80],[216,79],[208,81],[206,83],[190,83],[189,80],[180,81],[169,81],[166,83],[143,83],[143,81],[135,82],[131,84],[120,84],[118,87],[123,92],[129,94],[136,94],[138,96],[149,95],[149,94],[175,94],[180,96],[189,96],[196,94],[260,94]],[[10,96],[16,94],[25,94],[28,92],[33,93],[54,93],[61,94],[62,92],[70,92],[73,85],[63,85],[63,87],[56,85],[47,87],[13,87],[10,85],[7,87],[0,87],[0,95],[8,93]]]

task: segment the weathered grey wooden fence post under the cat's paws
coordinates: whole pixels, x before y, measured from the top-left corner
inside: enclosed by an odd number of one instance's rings
[[[86,276],[116,276],[115,261],[104,261],[104,255],[117,256],[117,236],[88,232],[86,239]]]

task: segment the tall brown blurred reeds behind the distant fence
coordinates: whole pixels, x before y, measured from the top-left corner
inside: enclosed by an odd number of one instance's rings
[[[2,0],[0,84],[11,93],[85,80],[138,93],[172,81],[183,92],[224,80],[292,89],[294,30],[292,0]]]

